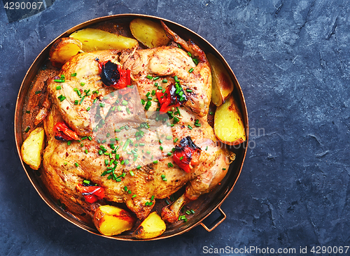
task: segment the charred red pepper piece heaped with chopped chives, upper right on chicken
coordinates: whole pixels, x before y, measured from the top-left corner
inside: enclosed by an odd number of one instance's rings
[[[169,85],[165,92],[161,90],[155,92],[160,103],[160,112],[167,113],[173,107],[181,106],[187,101],[186,94],[180,85]]]

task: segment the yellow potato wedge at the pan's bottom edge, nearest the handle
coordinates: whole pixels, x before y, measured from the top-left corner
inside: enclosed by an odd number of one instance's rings
[[[163,234],[166,228],[164,220],[160,218],[160,215],[153,211],[143,222],[141,222],[132,236],[137,239],[153,239],[153,237]]]

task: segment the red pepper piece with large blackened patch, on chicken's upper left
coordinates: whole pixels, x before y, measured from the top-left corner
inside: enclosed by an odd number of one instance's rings
[[[104,85],[116,89],[123,89],[131,84],[130,70],[121,69],[121,66],[111,62],[99,62],[101,79]]]

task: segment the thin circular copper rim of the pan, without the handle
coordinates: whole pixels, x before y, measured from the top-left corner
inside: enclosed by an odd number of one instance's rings
[[[176,232],[175,234],[168,234],[168,235],[164,235],[164,236],[158,236],[158,237],[155,237],[153,239],[128,239],[128,238],[124,238],[124,237],[120,237],[120,236],[105,236],[105,235],[99,234],[97,229],[93,229],[92,227],[84,225],[83,222],[74,219],[69,214],[64,213],[61,208],[58,208],[57,206],[55,206],[55,203],[50,198],[50,195],[44,194],[44,191],[42,189],[38,188],[38,185],[34,182],[32,177],[29,175],[29,171],[27,170],[27,168],[29,170],[31,170],[31,169],[29,167],[25,166],[25,163],[22,160],[21,149],[20,149],[20,145],[22,144],[20,142],[22,142],[22,140],[20,140],[19,136],[22,137],[22,131],[20,129],[18,129],[18,122],[20,122],[21,119],[22,119],[22,106],[20,106],[20,97],[25,97],[27,95],[28,90],[29,90],[28,86],[27,86],[27,88],[25,88],[25,85],[27,85],[28,79],[30,78],[31,73],[33,73],[34,71],[35,71],[34,73],[37,73],[37,71],[38,71],[38,62],[41,62],[42,59],[45,59],[43,57],[43,55],[45,55],[45,53],[48,52],[48,49],[50,48],[50,46],[58,38],[62,38],[62,37],[68,36],[69,34],[71,34],[73,31],[76,31],[77,29],[81,29],[83,27],[89,27],[89,26],[91,26],[93,24],[97,24],[99,22],[106,22],[106,21],[109,21],[109,20],[118,20],[118,19],[121,19],[121,18],[137,18],[137,17],[144,17],[144,18],[154,19],[154,20],[162,20],[164,22],[172,24],[172,26],[181,27],[181,29],[184,29],[184,30],[188,31],[190,34],[195,35],[197,38],[200,38],[200,40],[202,40],[205,43],[207,43],[207,45],[209,45],[209,48],[211,48],[211,50],[213,50],[215,52],[215,55],[220,57],[221,62],[223,62],[225,68],[228,69],[228,71],[229,71],[230,75],[232,76],[233,80],[235,80],[235,88],[237,88],[237,90],[238,90],[238,94],[239,94],[238,96],[239,96],[239,99],[240,99],[240,102],[241,102],[242,116],[244,118],[244,122],[245,122],[245,125],[246,125],[246,127],[245,127],[245,129],[246,129],[246,146],[244,147],[243,155],[241,157],[241,162],[239,163],[240,166],[239,166],[239,169],[238,169],[237,178],[235,179],[235,182],[231,185],[230,189],[225,192],[225,197],[223,197],[223,199],[221,199],[221,201],[216,203],[216,205],[214,207],[212,207],[211,211],[206,213],[204,215],[204,217],[201,218],[200,221],[195,222],[193,225],[189,225],[188,227],[184,228],[183,230],[181,230],[179,232]],[[34,71],[33,71],[33,69],[34,69]],[[30,81],[31,80],[32,79],[30,79]],[[26,89],[27,89],[27,92],[25,91]],[[162,17],[156,17],[156,16],[153,16],[153,15],[137,14],[137,13],[123,13],[123,14],[117,14],[117,15],[109,15],[109,16],[97,17],[97,18],[94,18],[92,20],[87,20],[85,22],[77,24],[76,26],[71,27],[70,29],[67,29],[66,31],[64,31],[62,34],[60,34],[55,39],[53,39],[48,45],[46,45],[45,48],[43,48],[43,50],[38,54],[36,59],[34,59],[34,62],[31,64],[31,66],[29,66],[29,69],[27,70],[27,73],[25,74],[25,78],[23,78],[23,80],[22,80],[22,84],[20,86],[20,90],[18,92],[18,97],[17,97],[17,101],[16,101],[16,105],[15,105],[14,131],[15,131],[15,143],[16,143],[18,155],[20,157],[20,161],[21,161],[22,167],[23,167],[23,169],[25,169],[25,173],[27,174],[27,177],[29,178],[29,180],[31,182],[31,185],[34,186],[34,189],[36,190],[36,192],[38,192],[38,194],[41,197],[41,199],[43,199],[43,201],[45,201],[45,203],[48,204],[48,206],[50,208],[52,208],[52,210],[55,211],[58,215],[60,215],[65,220],[68,220],[73,225],[76,225],[77,227],[80,227],[81,229],[84,229],[87,232],[90,232],[92,234],[96,234],[97,236],[103,236],[103,237],[106,237],[106,238],[109,238],[109,239],[116,239],[116,240],[120,240],[120,241],[153,241],[153,240],[166,239],[166,238],[169,238],[169,237],[172,237],[172,236],[177,236],[179,234],[183,234],[185,232],[188,232],[190,229],[193,229],[194,227],[197,227],[197,225],[200,225],[204,219],[206,219],[209,215],[211,215],[211,213],[216,211],[216,209],[219,208],[221,206],[221,204],[223,204],[223,201],[225,201],[225,199],[227,199],[227,197],[230,195],[230,193],[232,192],[233,188],[235,187],[235,184],[237,183],[237,180],[238,180],[238,178],[239,178],[239,176],[241,174],[241,169],[243,168],[244,160],[245,160],[245,157],[246,157],[246,152],[247,152],[247,149],[248,149],[247,145],[248,145],[249,126],[248,126],[248,112],[247,112],[247,109],[246,109],[246,101],[244,99],[244,94],[243,94],[243,92],[241,90],[241,86],[238,83],[238,80],[237,80],[237,78],[235,76],[235,73],[232,71],[232,69],[229,66],[228,62],[221,55],[221,53],[218,52],[218,50],[216,50],[216,48],[213,45],[211,45],[211,43],[209,43],[209,41],[207,41],[205,38],[203,38],[202,36],[197,34],[195,31],[192,31],[191,29],[188,29],[187,27],[185,27],[185,26],[183,26],[181,24],[178,24],[176,22],[172,22],[171,20],[167,20],[167,19],[162,18]],[[20,134],[20,135],[18,135],[18,134]],[[211,202],[211,203],[213,203],[213,202]]]

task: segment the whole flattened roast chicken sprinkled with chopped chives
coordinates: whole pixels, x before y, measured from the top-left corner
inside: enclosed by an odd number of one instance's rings
[[[209,192],[228,171],[230,152],[218,145],[207,122],[207,58],[191,41],[166,26],[165,31],[171,45],[80,53],[48,81],[42,178],[81,218],[88,220],[99,205],[115,202],[144,220],[156,199],[186,186],[162,210],[163,220],[176,222],[184,204]],[[130,86],[106,85],[107,63],[130,72]],[[163,106],[169,93],[173,102]],[[66,125],[73,140],[65,137],[69,132],[60,136],[57,124]],[[78,189],[87,182],[102,187],[104,197],[87,201]]]

